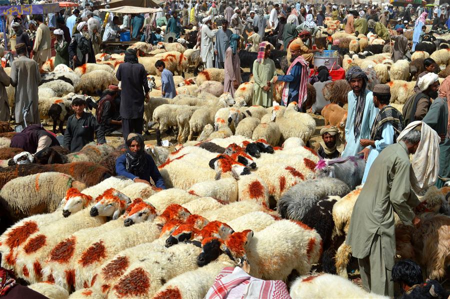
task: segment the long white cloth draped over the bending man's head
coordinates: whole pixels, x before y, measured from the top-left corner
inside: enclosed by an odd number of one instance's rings
[[[433,185],[439,173],[439,142],[436,131],[423,121],[416,120],[409,123],[398,135],[397,142],[417,125],[422,125],[420,141],[411,162],[411,186],[416,193]]]

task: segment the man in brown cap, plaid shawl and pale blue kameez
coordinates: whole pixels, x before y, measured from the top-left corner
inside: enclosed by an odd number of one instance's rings
[[[376,84],[373,87],[373,105],[379,109],[370,130],[370,139],[361,139],[359,144],[365,146],[359,153],[366,160],[362,183],[365,182],[370,166],[375,158],[387,145],[395,143],[404,128],[400,111],[389,105],[390,88],[386,84]]]

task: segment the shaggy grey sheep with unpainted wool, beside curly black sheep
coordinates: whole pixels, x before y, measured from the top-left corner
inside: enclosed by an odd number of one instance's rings
[[[301,221],[318,200],[327,195],[342,197],[349,191],[348,186],[337,178],[322,177],[305,180],[290,187],[281,195],[276,204],[277,211],[283,218]]]

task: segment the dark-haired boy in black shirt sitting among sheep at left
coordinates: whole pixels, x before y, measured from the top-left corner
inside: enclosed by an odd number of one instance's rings
[[[97,136],[97,144],[106,143],[100,125],[91,113],[84,112],[85,107],[84,97],[75,97],[72,100],[72,109],[75,113],[67,119],[67,127],[64,132],[64,147],[70,152],[79,151],[84,145],[92,142],[94,131]]]

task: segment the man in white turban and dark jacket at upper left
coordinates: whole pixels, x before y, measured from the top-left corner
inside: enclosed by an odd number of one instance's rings
[[[79,22],[76,29],[80,33],[73,34],[68,47],[70,65],[72,68],[84,63],[95,63],[95,54],[92,48],[87,22]]]

